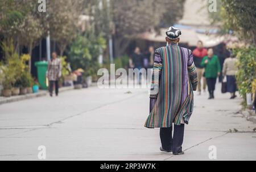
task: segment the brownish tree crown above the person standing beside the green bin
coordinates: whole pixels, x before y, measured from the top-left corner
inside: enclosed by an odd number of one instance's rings
[[[47,1],[46,14],[40,14],[44,25],[44,35],[50,32],[51,39],[57,42],[61,56],[67,45],[76,37],[83,3],[82,0]]]

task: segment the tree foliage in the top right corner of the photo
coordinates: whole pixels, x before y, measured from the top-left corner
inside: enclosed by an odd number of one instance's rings
[[[254,0],[218,0],[218,12],[210,12],[213,23],[221,25],[221,32],[235,31],[243,40],[256,45],[256,2]]]

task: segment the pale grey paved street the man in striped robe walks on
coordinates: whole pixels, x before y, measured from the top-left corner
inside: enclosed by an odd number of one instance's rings
[[[211,145],[217,160],[256,160],[256,124],[237,113],[241,100],[219,90],[207,98],[196,96],[183,156],[160,153],[159,129],[143,127],[145,89],[92,87],[0,105],[0,160],[38,160],[40,145],[46,160],[209,160]]]

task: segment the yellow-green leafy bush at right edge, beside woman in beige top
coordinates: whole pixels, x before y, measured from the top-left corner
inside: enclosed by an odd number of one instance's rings
[[[251,93],[252,83],[256,79],[256,48],[234,49],[238,59],[237,84],[240,94],[246,100],[246,93]]]

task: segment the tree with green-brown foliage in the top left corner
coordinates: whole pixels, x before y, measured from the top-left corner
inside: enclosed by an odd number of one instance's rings
[[[31,56],[35,43],[43,33],[42,25],[36,15],[37,3],[33,0],[3,0],[0,3],[2,10],[0,32],[7,41],[13,40],[16,51],[19,50],[20,45],[26,46]],[[31,59],[29,67],[31,69]]]

